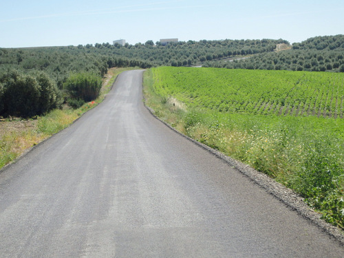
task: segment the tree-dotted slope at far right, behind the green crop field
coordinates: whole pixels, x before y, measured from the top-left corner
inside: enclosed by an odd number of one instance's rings
[[[344,35],[318,36],[294,43],[291,50],[264,52],[233,62],[213,61],[206,67],[344,72]],[[343,65],[343,66],[342,66]]]

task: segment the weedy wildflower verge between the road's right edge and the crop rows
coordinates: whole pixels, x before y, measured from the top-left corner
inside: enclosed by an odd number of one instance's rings
[[[155,87],[151,70],[147,70],[145,101],[160,119],[270,175],[302,195],[325,221],[344,228],[343,119],[187,109],[157,94]]]

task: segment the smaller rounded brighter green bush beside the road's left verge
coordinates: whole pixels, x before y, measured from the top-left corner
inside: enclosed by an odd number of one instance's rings
[[[71,74],[65,82],[65,89],[70,97],[85,102],[96,99],[99,96],[101,87],[102,78],[87,72]]]

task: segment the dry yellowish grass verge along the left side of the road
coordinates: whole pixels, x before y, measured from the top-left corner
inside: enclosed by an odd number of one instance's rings
[[[138,69],[137,67],[111,68],[103,79],[103,87],[100,96],[89,103],[85,103],[78,109],[65,107],[54,109],[45,116],[36,119],[23,120],[15,118],[0,121],[0,169],[6,164],[16,160],[26,150],[39,142],[49,138],[68,127],[86,111],[101,103],[106,94],[111,90],[114,81],[121,72]],[[30,124],[30,126],[27,126]]]

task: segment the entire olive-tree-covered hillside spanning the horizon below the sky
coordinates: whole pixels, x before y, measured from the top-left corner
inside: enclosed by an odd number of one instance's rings
[[[250,58],[240,58],[240,57]],[[318,36],[292,46],[283,39],[180,41],[129,45],[0,48],[0,75],[8,69],[43,71],[62,88],[69,72],[111,67],[157,66],[226,67],[230,69],[287,69],[344,72],[344,36]]]

